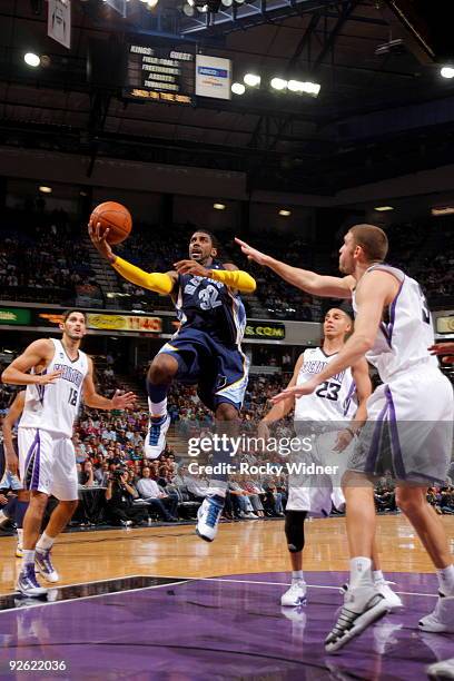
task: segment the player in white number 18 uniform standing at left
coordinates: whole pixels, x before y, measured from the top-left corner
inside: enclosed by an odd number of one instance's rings
[[[69,310],[60,324],[61,340],[40,338],[31,343],[2,373],[2,382],[26,385],[26,401],[18,428],[20,478],[30,490],[23,519],[23,556],[17,589],[27,596],[45,595],[34,564],[48,582],[59,576],[51,547],[78,505],[78,478],[71,442],[81,402],[96,409],[125,409],[135,395],[117,391],[109,399],[98,395],[92,361],[79,347],[87,333],[85,313]],[[38,541],[50,495],[59,500]]]

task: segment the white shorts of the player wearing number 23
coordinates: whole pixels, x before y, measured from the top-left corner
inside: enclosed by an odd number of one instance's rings
[[[296,453],[292,462],[288,462],[294,465],[289,468],[286,506],[288,511],[307,511],[308,515],[315,517],[329,515],[333,506],[337,511],[344,511],[345,497],[340,481],[347,467],[352,445],[344,452],[335,452],[337,432],[313,435],[312,450]]]

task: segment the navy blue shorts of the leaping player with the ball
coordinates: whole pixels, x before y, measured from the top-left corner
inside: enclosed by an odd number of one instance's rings
[[[178,362],[176,379],[197,384],[197,395],[213,412],[226,402],[241,408],[249,363],[238,346],[227,346],[197,328],[182,328],[159,353]]]

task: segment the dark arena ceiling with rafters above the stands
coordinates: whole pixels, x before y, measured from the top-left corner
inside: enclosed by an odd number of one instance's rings
[[[0,6],[0,144],[230,169],[250,189],[334,194],[452,162],[454,81],[382,0],[251,0],[211,26],[178,0],[152,12],[130,0],[121,18],[101,0],[72,0],[71,49],[47,37],[47,2]],[[231,11],[230,11],[231,13]],[[441,19],[442,20],[442,19]],[[120,83],[87,79],[91,39],[168,38],[248,71],[310,78],[318,98],[250,91],[196,107],[122,99]],[[389,45],[389,41],[396,41]],[[26,51],[48,56],[32,70]]]

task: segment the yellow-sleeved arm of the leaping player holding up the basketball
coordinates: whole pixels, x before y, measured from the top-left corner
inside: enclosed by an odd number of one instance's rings
[[[124,260],[119,256],[115,255],[107,241],[109,230],[106,229],[101,234],[100,227],[101,226],[99,223],[95,225],[91,220],[88,224],[88,234],[90,235],[91,243],[98,253],[110,263],[119,275],[131,284],[136,284],[136,286],[148,288],[148,290],[152,290],[161,295],[168,295],[172,292],[177,280],[177,274],[175,272],[145,272],[144,269],[140,269],[140,267],[136,267],[136,265]]]

